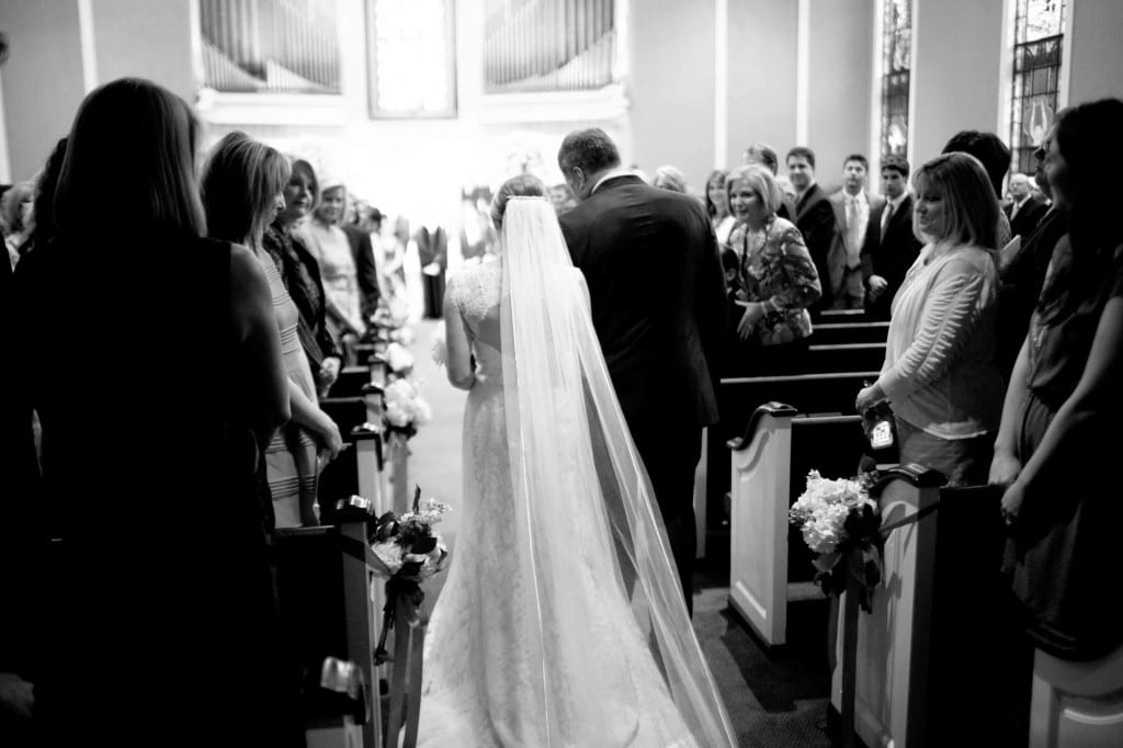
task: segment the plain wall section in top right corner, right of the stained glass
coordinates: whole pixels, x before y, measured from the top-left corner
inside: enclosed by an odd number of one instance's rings
[[[1123,98],[1123,2],[1069,0],[1072,57],[1068,102]]]

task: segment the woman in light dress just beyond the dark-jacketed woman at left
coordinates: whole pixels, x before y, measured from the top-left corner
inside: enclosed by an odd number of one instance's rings
[[[366,334],[366,321],[350,241],[339,228],[346,201],[344,183],[331,176],[322,177],[319,204],[312,211],[312,220],[301,227],[301,238],[320,266],[328,331],[344,354],[344,364],[354,366],[358,363],[356,346]]]

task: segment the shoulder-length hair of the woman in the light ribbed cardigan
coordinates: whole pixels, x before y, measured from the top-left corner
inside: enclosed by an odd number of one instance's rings
[[[943,236],[932,238],[997,249],[998,199],[978,158],[960,152],[937,156],[916,170],[913,189],[943,197]],[[915,220],[914,213],[914,232]]]

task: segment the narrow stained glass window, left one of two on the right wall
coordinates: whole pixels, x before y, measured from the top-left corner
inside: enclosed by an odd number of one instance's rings
[[[882,31],[882,154],[909,150],[912,0],[885,0]]]

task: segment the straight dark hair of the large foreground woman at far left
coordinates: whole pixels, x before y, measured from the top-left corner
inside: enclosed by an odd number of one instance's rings
[[[126,231],[207,232],[195,181],[199,122],[183,99],[138,77],[86,95],[67,136],[55,224],[63,236],[121,218]]]

